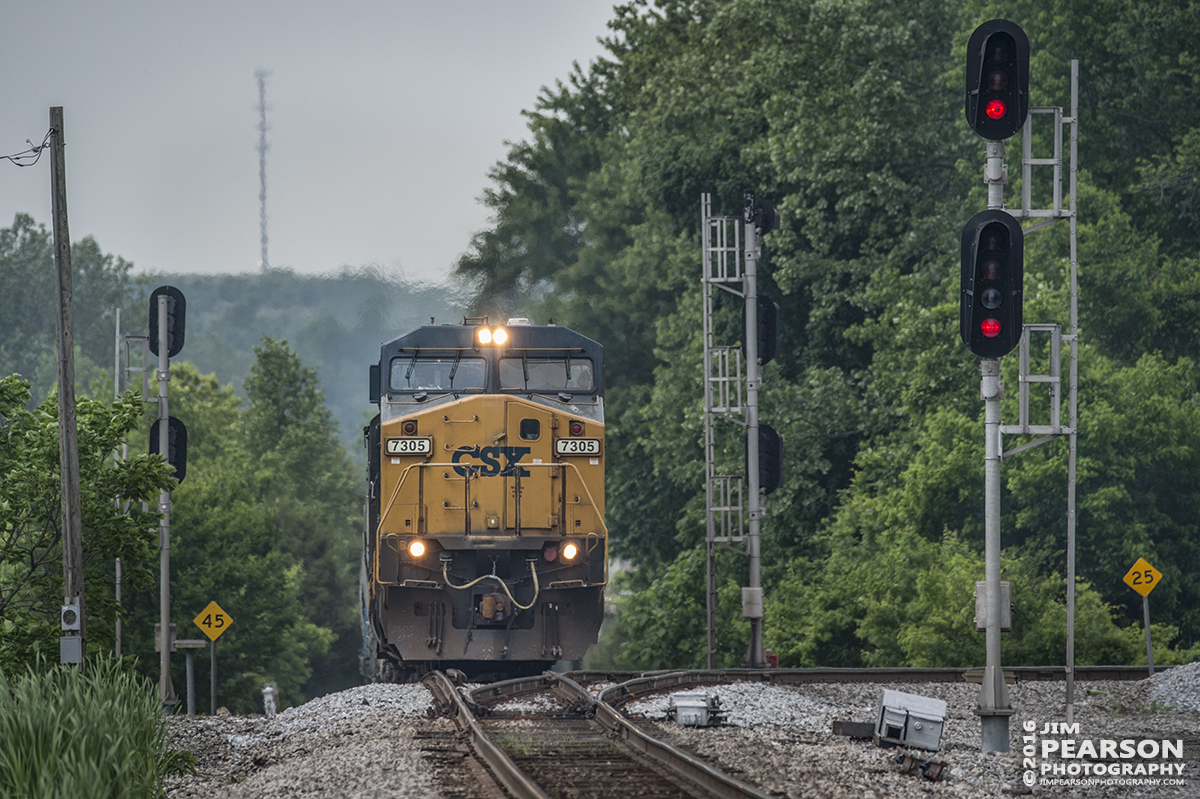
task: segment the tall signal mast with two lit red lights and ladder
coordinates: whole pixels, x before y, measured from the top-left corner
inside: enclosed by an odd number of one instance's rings
[[[966,103],[967,124],[986,139],[984,182],[988,185],[988,210],[967,222],[961,236],[961,293],[959,332],[967,348],[980,360],[980,395],[984,400],[984,571],[982,599],[985,618],[986,667],[976,713],[982,723],[984,751],[1009,750],[1008,717],[1013,715],[1008,689],[1000,665],[1001,575],[1000,575],[1000,463],[1057,437],[1067,437],[1067,721],[1073,721],[1074,696],[1074,600],[1075,600],[1075,429],[1078,374],[1078,282],[1075,247],[1075,175],[1078,170],[1078,74],[1079,62],[1072,61],[1072,114],[1063,118],[1061,108],[1030,107],[1030,40],[1015,23],[1004,19],[986,22],[971,34],[967,44]],[[1031,125],[1033,114],[1054,114],[1052,158],[1032,157]],[[1070,208],[1062,208],[1062,124],[1070,128]],[[1021,208],[1004,209],[1004,139],[1022,131]],[[1050,209],[1032,208],[1032,168],[1052,166],[1054,202]],[[1015,217],[1049,217],[1030,228],[1021,228]],[[1070,221],[1070,332],[1062,335],[1058,325],[1024,322],[1025,234],[1060,220]],[[1049,332],[1050,373],[1030,373],[1030,337]],[[1068,425],[1060,420],[1061,374],[1060,347],[1070,343]],[[1020,348],[1020,422],[1001,425],[1003,384],[1000,359]],[[1030,423],[1028,391],[1032,383],[1046,383],[1050,394],[1050,425]],[[1039,434],[1042,438],[1003,451],[1003,434]]]

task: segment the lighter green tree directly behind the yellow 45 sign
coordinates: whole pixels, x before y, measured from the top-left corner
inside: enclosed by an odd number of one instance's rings
[[[263,685],[274,681],[281,699],[308,698],[312,661],[332,641],[307,617],[304,565],[284,554],[272,503],[263,500],[264,475],[241,439],[245,410],[233,386],[202,376],[191,364],[172,366],[172,414],[187,426],[187,479],[172,494],[172,618],[181,638],[196,638],[193,617],[216,601],[233,618],[217,644],[217,701],[236,713],[259,709]],[[144,446],[144,439],[139,443]],[[157,566],[157,561],[152,564]],[[157,590],[130,601],[126,627],[143,668],[157,673],[150,636],[158,620]],[[198,659],[198,695],[208,695],[208,662]],[[182,657],[172,679],[184,696]],[[203,702],[198,703],[204,707]]]

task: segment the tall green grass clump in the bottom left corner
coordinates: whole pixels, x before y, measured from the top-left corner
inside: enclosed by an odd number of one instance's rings
[[[0,672],[0,797],[162,797],[166,774],[187,768],[167,743],[156,691],[112,657],[89,659],[85,675]]]

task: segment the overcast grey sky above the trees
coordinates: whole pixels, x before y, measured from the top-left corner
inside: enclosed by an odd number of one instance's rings
[[[72,240],[138,271],[258,269],[263,68],[270,264],[443,280],[521,110],[602,53],[613,0],[6,5],[0,155],[64,107]],[[0,227],[18,211],[50,227],[48,157],[0,161]]]

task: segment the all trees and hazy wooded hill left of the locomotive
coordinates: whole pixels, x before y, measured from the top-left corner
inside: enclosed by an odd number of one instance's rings
[[[251,710],[269,680],[287,703],[359,681],[362,481],[352,459],[362,453],[366,366],[380,342],[431,316],[454,320],[452,295],[374,268],[316,277],[286,270],[133,276],[128,262],[90,238],[73,245],[72,259],[77,391],[106,398],[80,401],[80,435],[106,455],[125,437],[131,451],[145,452],[149,427],[140,401],[107,401],[115,311],[122,331],[137,335],[145,331],[150,287],[176,286],[188,301],[187,343],[170,382],[172,414],[190,433],[188,476],[173,494],[172,618],[185,638],[197,637],[191,619],[211,600],[235,619],[220,644],[218,699]],[[0,230],[0,374],[26,378],[6,379],[2,391],[8,471],[0,491],[10,504],[2,509],[0,638],[14,662],[53,650],[58,637],[56,415],[53,402],[37,407],[56,380],[55,307],[50,235],[18,215]],[[89,641],[113,644],[114,558],[121,557],[125,651],[151,675],[158,662],[151,637],[157,516],[134,501],[121,533],[114,519],[126,517],[109,511],[118,494],[156,507],[157,487],[168,477],[143,474],[156,463],[139,456],[120,469],[109,463],[95,475],[85,471],[95,481],[89,497],[102,505],[85,509]],[[97,499],[106,493],[109,499]],[[101,523],[97,513],[113,518]],[[184,659],[174,661],[182,696]],[[208,660],[197,663],[205,707]]]

